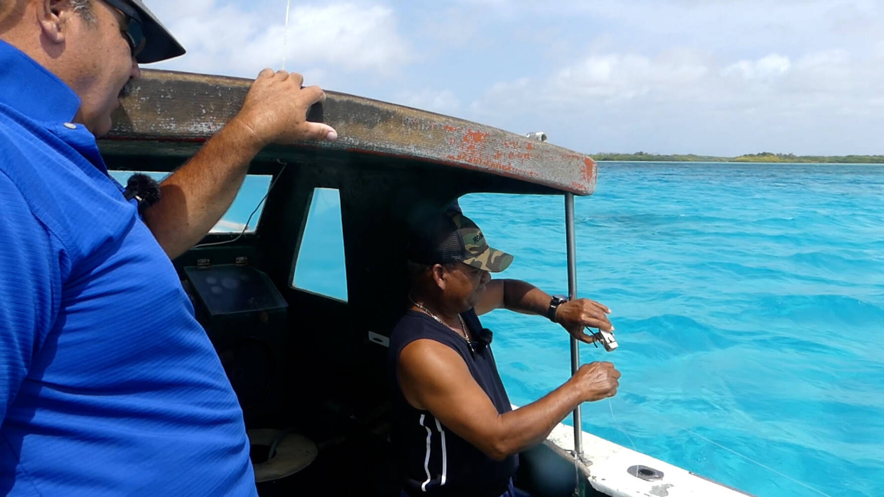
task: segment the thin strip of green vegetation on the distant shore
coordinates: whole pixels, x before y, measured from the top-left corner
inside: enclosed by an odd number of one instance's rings
[[[644,161],[644,162],[760,162],[760,163],[811,163],[811,164],[884,164],[884,156],[796,156],[795,154],[746,154],[739,157],[697,156],[694,154],[660,155],[647,152],[613,154],[602,152],[591,156],[598,161]]]

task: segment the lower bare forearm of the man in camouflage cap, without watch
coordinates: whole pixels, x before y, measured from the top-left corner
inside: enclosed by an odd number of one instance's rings
[[[504,459],[546,440],[552,428],[582,401],[578,389],[568,382],[538,401],[500,415],[492,457]]]

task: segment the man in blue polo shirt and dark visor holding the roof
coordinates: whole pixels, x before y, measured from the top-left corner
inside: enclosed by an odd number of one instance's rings
[[[141,0],[0,0],[0,495],[254,495],[242,413],[171,258],[268,143],[334,140],[265,69],[139,218],[108,176],[138,63],[184,53]]]

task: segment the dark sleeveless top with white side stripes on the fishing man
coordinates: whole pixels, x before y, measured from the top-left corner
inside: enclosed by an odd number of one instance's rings
[[[396,363],[402,349],[415,340],[429,339],[453,348],[463,357],[476,383],[492,400],[498,412],[512,410],[507,392],[494,363],[492,333],[482,327],[475,310],[461,314],[479,340],[473,342],[474,356],[467,340],[432,317],[408,310],[393,329],[388,357],[389,384],[395,418],[392,442],[400,457],[405,491],[410,495],[470,495],[498,497],[507,491],[509,478],[519,466],[519,456],[497,462],[441,424],[428,410],[415,409],[402,394]]]

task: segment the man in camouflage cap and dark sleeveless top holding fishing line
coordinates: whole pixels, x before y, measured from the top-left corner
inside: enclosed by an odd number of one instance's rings
[[[408,310],[393,330],[388,378],[392,442],[403,495],[514,497],[518,454],[545,440],[583,401],[617,391],[612,363],[584,364],[563,386],[513,410],[478,316],[508,309],[549,317],[578,340],[613,331],[606,306],[551,297],[517,279],[491,279],[513,256],[489,247],[459,210],[417,216],[408,233]]]

